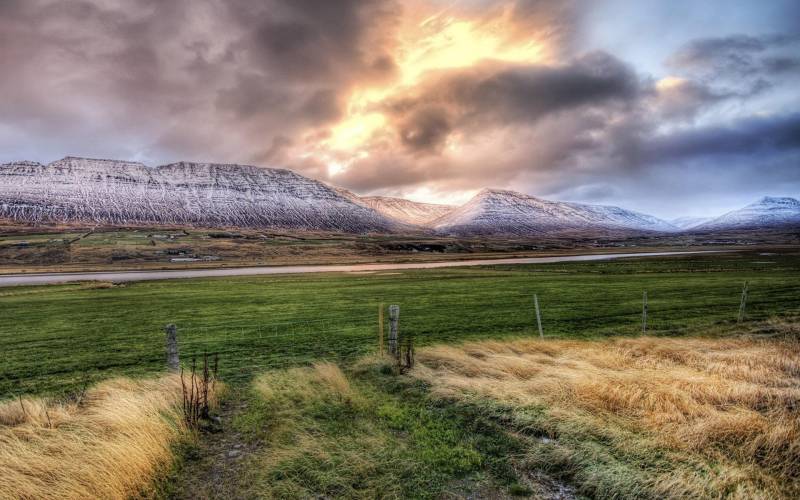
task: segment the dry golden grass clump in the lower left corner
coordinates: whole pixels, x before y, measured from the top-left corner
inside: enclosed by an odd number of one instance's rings
[[[185,429],[180,379],[115,379],[80,402],[0,405],[0,498],[129,498],[147,494]],[[79,404],[80,403],[80,404]]]

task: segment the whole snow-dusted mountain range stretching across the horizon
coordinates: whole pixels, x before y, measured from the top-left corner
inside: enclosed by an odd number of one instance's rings
[[[0,218],[31,224],[172,224],[450,236],[625,236],[800,227],[800,202],[765,196],[717,218],[657,217],[609,205],[484,188],[460,206],[359,196],[285,168],[67,156],[0,165]]]

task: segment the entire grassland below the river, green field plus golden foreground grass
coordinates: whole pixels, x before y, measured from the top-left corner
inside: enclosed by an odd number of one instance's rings
[[[798,278],[783,250],[3,288],[0,497],[796,498]],[[204,431],[167,323],[219,353]]]

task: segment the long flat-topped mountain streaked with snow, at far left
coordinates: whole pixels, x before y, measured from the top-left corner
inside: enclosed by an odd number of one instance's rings
[[[41,222],[388,232],[396,223],[284,169],[67,157],[0,166],[0,217]]]

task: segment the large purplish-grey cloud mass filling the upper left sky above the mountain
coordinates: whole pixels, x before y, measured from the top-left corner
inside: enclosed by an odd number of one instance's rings
[[[8,160],[255,162],[277,137],[339,119],[356,82],[396,70],[391,0],[0,0],[0,9]]]

